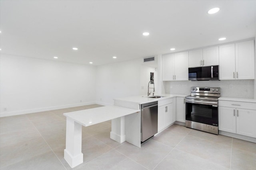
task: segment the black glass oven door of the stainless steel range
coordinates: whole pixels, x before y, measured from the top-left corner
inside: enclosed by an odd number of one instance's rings
[[[186,99],[186,120],[218,126],[218,101]]]

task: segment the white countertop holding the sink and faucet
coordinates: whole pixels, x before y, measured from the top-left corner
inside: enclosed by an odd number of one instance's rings
[[[152,96],[152,95],[150,95]],[[115,101],[125,101],[125,102],[131,102],[136,104],[145,104],[148,102],[155,102],[159,100],[164,100],[168,98],[175,98],[175,97],[186,97],[189,96],[189,94],[155,94],[154,96],[165,96],[162,98],[148,98],[147,95],[143,96],[129,96],[124,98],[117,98],[114,99]]]

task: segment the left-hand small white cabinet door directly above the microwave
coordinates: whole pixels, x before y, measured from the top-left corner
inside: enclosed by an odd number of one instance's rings
[[[200,67],[202,66],[203,49],[188,51],[188,66]]]

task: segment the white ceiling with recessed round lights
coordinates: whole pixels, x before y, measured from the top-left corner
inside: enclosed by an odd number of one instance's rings
[[[0,30],[1,53],[101,65],[255,37],[256,0],[0,0]]]

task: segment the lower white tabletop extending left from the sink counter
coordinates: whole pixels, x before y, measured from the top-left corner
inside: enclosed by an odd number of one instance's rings
[[[83,126],[90,126],[125,115],[130,115],[138,111],[140,110],[110,105],[86,110],[72,111],[64,113],[63,115],[73,119]]]

